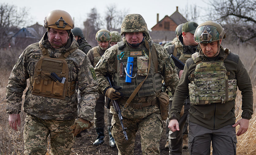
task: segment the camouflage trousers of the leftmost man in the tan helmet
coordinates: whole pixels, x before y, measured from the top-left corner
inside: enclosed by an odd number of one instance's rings
[[[74,135],[70,126],[75,120],[43,120],[27,114],[24,125],[24,154],[45,155],[47,138],[51,138],[52,154],[70,154]]]

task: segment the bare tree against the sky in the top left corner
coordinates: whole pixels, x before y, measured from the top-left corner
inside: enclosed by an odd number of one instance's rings
[[[15,5],[0,4],[0,48],[9,45],[11,30],[23,25],[27,15],[26,8],[18,11]]]

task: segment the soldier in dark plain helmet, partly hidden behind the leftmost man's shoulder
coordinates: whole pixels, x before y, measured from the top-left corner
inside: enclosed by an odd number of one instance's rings
[[[79,27],[75,27],[71,30],[71,32],[74,34],[75,40],[79,45],[78,49],[82,50],[85,54],[87,54],[88,51],[92,49],[92,46],[89,45],[86,38],[84,38],[82,30]]]

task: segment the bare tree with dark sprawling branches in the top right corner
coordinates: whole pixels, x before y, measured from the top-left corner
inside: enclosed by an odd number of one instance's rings
[[[221,23],[229,38],[239,42],[256,40],[256,0],[215,0],[213,20]]]

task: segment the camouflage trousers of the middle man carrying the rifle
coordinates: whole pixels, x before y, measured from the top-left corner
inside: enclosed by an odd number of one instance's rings
[[[141,136],[142,153],[160,154],[159,142],[163,134],[163,124],[160,109],[157,106],[147,106],[142,109],[128,106],[122,110],[123,124],[127,128],[127,141],[124,139],[119,117],[114,112],[113,106],[111,106],[110,113],[113,113],[111,133],[117,145],[118,155],[133,155],[137,131]]]

